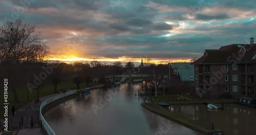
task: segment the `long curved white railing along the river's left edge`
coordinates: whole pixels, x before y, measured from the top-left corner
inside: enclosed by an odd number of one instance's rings
[[[63,93],[63,94],[60,94],[60,95],[57,95],[57,96],[54,96],[52,98],[49,98],[47,100],[45,100],[44,102],[41,103],[41,106],[40,106],[40,119],[42,121],[42,126],[44,126],[46,132],[48,134],[53,134],[55,135],[54,131],[52,130],[52,128],[48,125],[48,123],[46,122],[45,118],[42,116],[42,108],[44,108],[46,105],[48,105],[49,103],[52,103],[58,99],[61,99],[61,98],[64,98],[64,97],[67,97],[67,96],[70,96],[70,95],[73,95],[73,94],[76,94],[76,90],[74,91],[70,91],[70,92],[67,92],[67,93]]]

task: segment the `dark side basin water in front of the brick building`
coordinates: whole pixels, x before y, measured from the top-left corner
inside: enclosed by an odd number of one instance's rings
[[[208,110],[207,105],[174,105],[171,112],[185,115],[223,130],[224,134],[255,134],[256,108],[240,104],[224,104],[223,110]]]

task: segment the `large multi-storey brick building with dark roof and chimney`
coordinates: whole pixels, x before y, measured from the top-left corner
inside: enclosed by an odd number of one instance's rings
[[[195,92],[200,97],[256,97],[256,43],[230,44],[205,50],[195,66]]]

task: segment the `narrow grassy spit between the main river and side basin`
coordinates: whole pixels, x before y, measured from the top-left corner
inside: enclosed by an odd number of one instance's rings
[[[198,130],[206,134],[223,133],[220,129],[214,128],[211,130],[211,125],[202,124],[196,120],[190,119],[177,113],[170,113],[156,103],[142,103],[143,107],[150,110],[152,113],[162,116],[168,120],[172,120],[190,129]]]

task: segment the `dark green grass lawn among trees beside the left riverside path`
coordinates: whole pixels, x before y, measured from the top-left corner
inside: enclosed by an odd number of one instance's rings
[[[92,82],[89,83],[89,86],[92,85]],[[98,85],[98,84],[96,84]],[[63,90],[67,90],[67,89],[71,89],[71,87],[75,87],[76,84],[74,84],[73,81],[61,81],[58,85],[57,85],[57,91],[60,92],[60,89],[63,88]],[[82,82],[80,84],[81,88],[85,88],[87,87],[85,82]],[[20,86],[20,87],[16,87],[16,92],[17,92],[17,96],[18,96],[18,100],[19,103],[14,103],[14,98],[13,98],[13,92],[11,91],[11,89],[8,89],[8,113],[11,114],[11,108],[12,106],[15,107],[15,109],[19,109],[20,107],[26,105],[27,103],[34,101],[37,97],[37,91],[36,90],[32,90],[32,93],[30,93],[30,91],[27,92],[27,87],[24,86]],[[47,95],[52,95],[54,94],[54,85],[53,83],[46,83],[45,86],[41,87],[41,89],[39,90],[39,97],[44,97]],[[4,97],[4,96],[1,96]],[[29,97],[29,100],[27,99],[27,97]],[[2,100],[0,100],[0,119],[4,119],[4,99],[2,98]]]

